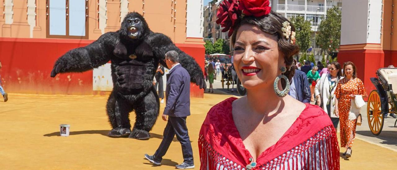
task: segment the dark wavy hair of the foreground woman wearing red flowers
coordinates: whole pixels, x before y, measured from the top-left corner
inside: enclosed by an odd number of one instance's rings
[[[265,33],[275,35],[278,39],[278,49],[284,54],[285,65],[287,68],[287,72],[284,73],[285,76],[288,77],[291,82],[292,77],[295,74],[295,70],[291,68],[293,64],[293,55],[299,52],[299,46],[297,44],[291,44],[291,35],[289,35],[289,39],[285,38],[283,35],[283,22],[288,21],[291,26],[291,31],[295,31],[295,27],[292,23],[283,15],[280,15],[276,12],[271,11],[268,15],[264,15],[261,17],[254,16],[244,16],[240,21],[236,23],[236,26],[233,31],[233,35],[231,36],[231,44],[234,46],[236,43],[237,31],[239,30],[241,25],[253,25],[259,27],[259,29]],[[290,68],[290,69],[289,69]],[[285,88],[285,82],[281,81],[281,85]]]

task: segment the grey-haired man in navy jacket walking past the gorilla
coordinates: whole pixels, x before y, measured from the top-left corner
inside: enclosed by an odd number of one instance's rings
[[[166,107],[162,119],[168,122],[157,151],[154,155],[145,154],[145,158],[155,165],[160,165],[162,157],[166,154],[176,135],[182,145],[183,162],[175,167],[178,169],[195,168],[193,150],[186,126],[186,117],[190,115],[190,75],[179,64],[176,51],[167,52],[165,62],[171,69],[167,74]]]

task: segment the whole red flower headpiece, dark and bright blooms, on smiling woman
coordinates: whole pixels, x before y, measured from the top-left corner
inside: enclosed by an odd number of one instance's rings
[[[269,4],[269,0],[224,0],[216,14],[218,17],[216,23],[224,27],[222,32],[229,31],[230,37],[241,13],[254,17],[267,15],[272,9]]]

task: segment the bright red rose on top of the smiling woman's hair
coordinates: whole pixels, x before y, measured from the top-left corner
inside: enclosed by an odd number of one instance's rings
[[[269,0],[240,0],[239,10],[243,10],[245,15],[260,17],[270,13],[272,8]]]

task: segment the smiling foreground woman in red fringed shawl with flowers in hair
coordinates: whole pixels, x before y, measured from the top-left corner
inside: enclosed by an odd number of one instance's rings
[[[270,12],[268,0],[224,0],[218,18],[232,34],[233,64],[247,96],[208,112],[198,139],[200,169],[339,169],[328,114],[287,95],[299,51],[295,28]]]

